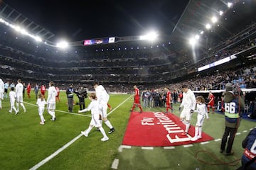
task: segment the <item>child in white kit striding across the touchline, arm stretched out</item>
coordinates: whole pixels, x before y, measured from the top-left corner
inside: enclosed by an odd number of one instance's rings
[[[90,125],[85,131],[81,131],[82,135],[88,136],[89,132],[92,130],[93,127],[99,128],[100,132],[103,135],[103,138],[101,139],[103,142],[109,140],[109,138],[106,135],[105,130],[102,128],[102,124],[100,123],[100,104],[96,100],[96,94],[92,93],[89,96],[89,99],[91,100],[91,103],[89,106],[82,111],[78,111],[78,113],[91,111],[92,114],[92,120],[90,121]]]

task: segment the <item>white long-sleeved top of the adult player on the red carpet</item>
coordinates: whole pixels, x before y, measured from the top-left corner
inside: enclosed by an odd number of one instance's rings
[[[186,93],[183,92],[181,107],[182,106],[185,109],[195,110],[195,108],[196,108],[196,97],[195,97],[195,94],[193,94],[193,91],[191,91],[191,89],[188,89],[188,91]]]

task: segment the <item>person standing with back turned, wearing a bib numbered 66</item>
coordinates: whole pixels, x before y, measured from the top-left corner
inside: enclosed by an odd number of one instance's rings
[[[225,108],[225,132],[221,140],[220,153],[225,151],[225,155],[228,156],[234,154],[232,146],[235,140],[235,133],[238,131],[240,121],[242,120],[241,110],[245,108],[245,101],[240,96],[239,87],[233,86],[230,83],[225,86],[223,101]],[[227,140],[228,146],[225,150]]]

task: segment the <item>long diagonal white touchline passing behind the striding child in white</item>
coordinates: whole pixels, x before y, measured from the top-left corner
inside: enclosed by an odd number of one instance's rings
[[[122,103],[120,103],[115,109],[119,108],[119,106],[122,106],[122,104],[124,102],[126,102],[131,96],[129,96],[127,99],[125,99]],[[112,113],[115,109],[113,109],[110,113]],[[109,114],[110,114],[109,113]],[[56,152],[54,152],[53,154],[51,154],[49,157],[47,157],[46,159],[43,159],[41,162],[39,162],[38,164],[36,164],[35,166],[33,166],[31,169],[29,170],[36,170],[38,169],[40,166],[42,166],[43,164],[46,164],[46,162],[50,161],[50,159],[53,159],[53,157],[55,157],[56,155],[58,155],[60,152],[62,152],[64,149],[66,149],[67,147],[69,147],[71,144],[73,144],[76,140],[78,140],[80,137],[82,136],[82,134],[78,135],[77,137],[75,137],[73,140],[70,140],[70,142],[68,142],[66,145],[64,145],[63,147],[61,147],[60,149],[58,149]]]

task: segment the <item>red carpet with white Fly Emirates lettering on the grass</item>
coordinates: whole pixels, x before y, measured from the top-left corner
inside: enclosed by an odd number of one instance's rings
[[[213,140],[203,132],[202,138],[193,142],[195,128],[191,125],[187,136],[181,135],[183,130],[185,125],[172,113],[132,112],[122,145],[167,147]]]

